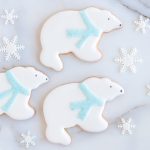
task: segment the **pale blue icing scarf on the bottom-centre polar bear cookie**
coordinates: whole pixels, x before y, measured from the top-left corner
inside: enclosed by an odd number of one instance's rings
[[[85,100],[80,102],[72,102],[70,105],[71,110],[80,110],[78,117],[81,120],[84,120],[88,115],[89,111],[94,106],[102,106],[104,105],[104,101],[97,97],[85,84],[80,84],[80,90],[85,95]]]

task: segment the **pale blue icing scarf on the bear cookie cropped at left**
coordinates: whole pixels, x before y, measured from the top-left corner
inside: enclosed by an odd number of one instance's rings
[[[0,100],[9,97],[6,104],[4,104],[1,109],[6,112],[9,110],[11,105],[15,102],[16,96],[21,93],[23,95],[30,95],[30,90],[23,87],[17,79],[14,77],[14,75],[10,72],[6,72],[6,78],[11,85],[11,89],[4,91],[3,93],[0,93]]]

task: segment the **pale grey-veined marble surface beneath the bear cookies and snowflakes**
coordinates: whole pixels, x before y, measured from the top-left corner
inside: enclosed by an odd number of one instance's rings
[[[144,2],[144,0],[142,0]],[[146,2],[146,0],[145,0]],[[138,5],[138,3],[136,3]],[[105,34],[99,43],[104,57],[97,63],[85,63],[72,55],[62,56],[64,69],[55,72],[39,62],[41,50],[39,35],[42,24],[52,14],[65,9],[82,9],[88,6],[105,8],[116,14],[123,22],[123,28]],[[150,83],[150,31],[147,34],[135,32],[133,21],[139,16],[134,9],[128,9],[120,0],[0,0],[0,12],[4,8],[15,8],[19,19],[15,25],[4,25],[0,19],[0,38],[3,36],[19,36],[25,45],[21,61],[5,62],[0,54],[0,70],[13,66],[35,66],[45,72],[50,81],[32,93],[31,104],[36,109],[36,115],[27,121],[15,121],[7,116],[0,116],[0,150],[22,150],[18,144],[19,134],[30,130],[37,136],[37,145],[31,150],[148,150],[150,149],[150,97],[146,95],[145,86]],[[148,7],[147,7],[148,8]],[[139,12],[143,11],[144,8]],[[149,8],[148,8],[149,11]],[[141,12],[142,13],[142,12]],[[147,15],[148,16],[148,15]],[[119,48],[138,49],[143,63],[137,65],[137,73],[119,73],[119,66],[113,62],[118,55]],[[72,144],[68,147],[54,145],[47,142],[44,129],[45,122],[42,104],[46,94],[58,85],[81,81],[90,76],[107,76],[120,83],[125,89],[125,95],[108,103],[104,110],[104,117],[109,122],[106,131],[89,134],[78,128],[69,130]],[[117,128],[120,117],[131,117],[136,128],[133,135],[121,135]]]

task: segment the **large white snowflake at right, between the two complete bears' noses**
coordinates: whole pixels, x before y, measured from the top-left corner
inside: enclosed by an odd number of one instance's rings
[[[136,63],[141,63],[142,59],[138,58],[137,55],[137,49],[120,49],[120,57],[115,58],[115,62],[121,64],[120,72],[126,72],[128,69],[136,73]]]

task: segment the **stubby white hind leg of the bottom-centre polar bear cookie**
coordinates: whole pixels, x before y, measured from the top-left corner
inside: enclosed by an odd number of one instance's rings
[[[71,143],[71,138],[64,128],[47,127],[46,137],[52,143],[58,143],[63,145],[69,145]]]

